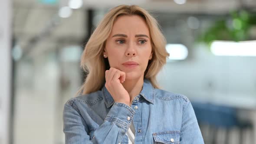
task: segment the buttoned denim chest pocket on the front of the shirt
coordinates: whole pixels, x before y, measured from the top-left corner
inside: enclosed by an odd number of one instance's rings
[[[179,131],[162,131],[153,133],[154,144],[180,144]]]

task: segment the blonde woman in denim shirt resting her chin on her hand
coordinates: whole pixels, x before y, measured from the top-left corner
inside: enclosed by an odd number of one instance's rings
[[[82,54],[89,74],[79,95],[64,106],[66,144],[203,144],[188,98],[157,84],[165,45],[146,10],[110,10]]]

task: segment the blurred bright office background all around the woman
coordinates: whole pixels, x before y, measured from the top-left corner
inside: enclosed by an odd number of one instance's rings
[[[65,143],[80,55],[119,4],[159,21],[171,54],[159,83],[190,98],[205,143],[256,144],[256,0],[1,0],[0,144]]]

